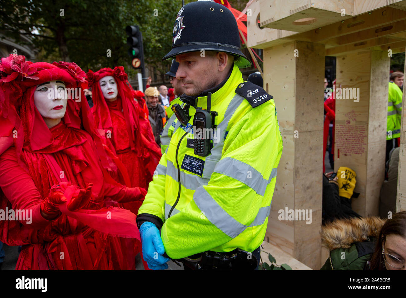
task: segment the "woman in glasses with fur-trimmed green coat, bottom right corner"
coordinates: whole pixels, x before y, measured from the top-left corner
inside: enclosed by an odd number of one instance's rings
[[[388,220],[335,220],[321,236],[330,257],[320,270],[406,270],[406,211]]]

